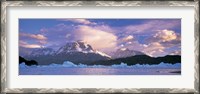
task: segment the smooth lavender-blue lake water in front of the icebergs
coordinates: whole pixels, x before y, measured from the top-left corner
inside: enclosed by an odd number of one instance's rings
[[[180,75],[177,68],[20,68],[19,75]],[[174,73],[173,73],[174,72]]]

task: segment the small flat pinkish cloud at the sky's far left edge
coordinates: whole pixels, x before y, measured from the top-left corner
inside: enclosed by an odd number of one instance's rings
[[[41,48],[42,46],[39,44],[28,44],[25,41],[20,40],[19,41],[19,46],[24,47],[24,48]]]

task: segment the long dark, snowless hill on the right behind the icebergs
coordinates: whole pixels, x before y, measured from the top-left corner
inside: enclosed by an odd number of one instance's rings
[[[97,61],[90,63],[90,65],[113,65],[113,64],[120,64],[121,62],[126,63],[127,65],[135,65],[135,64],[160,64],[163,63],[181,63],[181,56],[179,55],[167,55],[164,57],[150,57],[147,55],[136,55],[126,58],[118,58],[106,61]]]

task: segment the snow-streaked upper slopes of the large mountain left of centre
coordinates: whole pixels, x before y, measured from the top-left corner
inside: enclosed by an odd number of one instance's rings
[[[111,58],[111,56],[94,50],[92,46],[89,44],[86,44],[83,41],[76,41],[76,42],[68,42],[64,46],[60,47],[58,50],[53,50],[51,48],[38,48],[35,49],[29,54],[30,57],[37,57],[37,56],[45,56],[45,55],[58,55],[58,54],[67,54],[67,53],[76,53],[76,52],[81,52],[81,53],[94,53],[98,54],[104,57]]]

